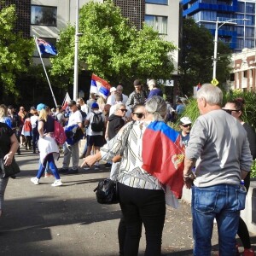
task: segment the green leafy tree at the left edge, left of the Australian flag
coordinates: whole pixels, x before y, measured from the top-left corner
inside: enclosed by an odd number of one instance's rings
[[[15,86],[16,77],[26,71],[32,57],[34,44],[14,32],[15,5],[0,9],[0,84],[1,95],[19,96]]]

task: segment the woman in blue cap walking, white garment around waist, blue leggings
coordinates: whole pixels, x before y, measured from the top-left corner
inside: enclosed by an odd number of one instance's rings
[[[58,168],[55,165],[55,159],[59,159],[60,153],[58,145],[55,141],[53,133],[55,131],[55,119],[53,119],[46,111],[46,106],[43,103],[38,104],[38,149],[40,152],[40,164],[37,177],[32,177],[31,181],[35,185],[39,184],[40,178],[43,176],[46,168],[46,163],[49,163],[49,168],[55,176],[53,187],[61,186],[61,177]]]

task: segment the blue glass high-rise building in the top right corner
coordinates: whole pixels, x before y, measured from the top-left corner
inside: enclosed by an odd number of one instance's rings
[[[183,17],[206,26],[234,52],[256,47],[255,0],[182,0]],[[222,23],[221,23],[222,22]]]

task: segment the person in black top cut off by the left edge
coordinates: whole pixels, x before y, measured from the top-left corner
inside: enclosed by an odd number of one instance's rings
[[[9,125],[0,122],[0,157],[4,160],[4,165],[9,166],[14,157],[17,149],[19,148],[19,142]],[[9,178],[0,178],[0,217],[3,213],[3,197]]]

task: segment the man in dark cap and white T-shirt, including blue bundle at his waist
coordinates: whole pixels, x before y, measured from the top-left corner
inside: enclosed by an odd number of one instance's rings
[[[63,144],[64,157],[60,172],[74,174],[79,172],[79,140],[84,136],[84,131],[82,131],[83,118],[75,101],[68,102],[68,107],[71,109],[71,114],[68,119],[66,131],[72,133],[71,137],[75,140]],[[81,136],[79,136],[79,133],[81,133]],[[68,170],[71,158],[73,166],[71,170]]]

